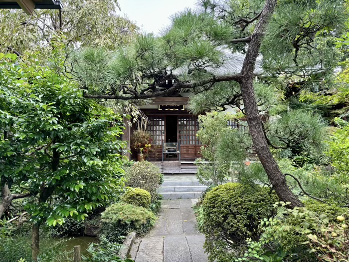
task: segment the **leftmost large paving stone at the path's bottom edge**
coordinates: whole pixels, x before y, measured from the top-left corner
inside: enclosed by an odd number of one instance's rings
[[[164,238],[144,238],[139,246],[135,262],[163,262]]]

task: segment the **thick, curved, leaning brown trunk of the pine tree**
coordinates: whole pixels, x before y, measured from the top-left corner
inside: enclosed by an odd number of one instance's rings
[[[241,93],[247,115],[247,124],[252,137],[253,146],[259,160],[267,173],[271,184],[280,200],[290,202],[291,207],[302,207],[302,202],[292,193],[287,186],[286,178],[270,152],[267,139],[263,132],[262,120],[259,115],[256,96],[253,88],[254,68],[259,53],[259,48],[264,33],[264,28],[272,15],[277,0],[266,0],[260,19],[251,36],[246,57],[241,70]]]

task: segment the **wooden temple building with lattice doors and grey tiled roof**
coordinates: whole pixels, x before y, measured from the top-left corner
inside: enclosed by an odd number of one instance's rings
[[[217,74],[241,71],[244,56],[226,52],[226,61],[215,69]],[[261,67],[257,64],[255,73],[260,74]],[[152,138],[152,151],[147,160],[158,163],[163,173],[195,173],[193,161],[201,157],[196,133],[199,129],[198,118],[188,111],[191,93],[178,93],[174,97],[156,97],[147,106],[140,109],[148,118],[146,131]],[[232,111],[231,108],[227,108]],[[237,123],[230,123],[232,128],[239,128]],[[137,130],[136,125],[126,125],[123,140],[130,141],[131,135]],[[136,160],[137,152],[130,148],[130,159]],[[165,164],[164,164],[165,163]]]

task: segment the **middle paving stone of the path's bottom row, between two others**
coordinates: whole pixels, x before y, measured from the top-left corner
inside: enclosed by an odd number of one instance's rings
[[[184,236],[167,236],[165,238],[164,262],[192,262]]]

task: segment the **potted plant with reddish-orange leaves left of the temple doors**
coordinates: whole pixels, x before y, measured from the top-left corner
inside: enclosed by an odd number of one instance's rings
[[[148,156],[152,148],[152,136],[144,130],[136,130],[131,136],[131,145],[137,151],[137,161]]]

